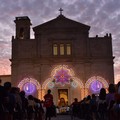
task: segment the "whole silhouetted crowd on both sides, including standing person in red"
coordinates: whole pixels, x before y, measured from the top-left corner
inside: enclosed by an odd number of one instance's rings
[[[101,88],[98,96],[74,100],[70,105],[72,119],[120,120],[120,82],[110,84],[108,90]],[[10,82],[0,85],[0,120],[51,120],[52,116],[56,116],[56,109],[51,90],[43,102],[32,95],[26,98],[25,92],[12,87]]]

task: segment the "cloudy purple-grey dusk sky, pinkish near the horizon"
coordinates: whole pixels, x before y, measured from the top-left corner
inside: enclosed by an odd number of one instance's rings
[[[11,74],[15,17],[28,16],[33,28],[56,18],[59,8],[67,18],[91,26],[90,37],[112,34],[115,81],[120,81],[120,0],[0,0],[0,75]]]

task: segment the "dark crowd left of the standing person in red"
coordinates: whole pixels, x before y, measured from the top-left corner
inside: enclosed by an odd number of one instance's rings
[[[1,80],[0,80],[1,82]],[[10,82],[0,85],[0,120],[43,120],[43,102],[11,87]]]

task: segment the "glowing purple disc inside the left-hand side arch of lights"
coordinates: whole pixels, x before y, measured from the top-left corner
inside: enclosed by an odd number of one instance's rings
[[[27,94],[32,94],[35,92],[36,86],[33,83],[28,82],[24,84],[23,89]]]

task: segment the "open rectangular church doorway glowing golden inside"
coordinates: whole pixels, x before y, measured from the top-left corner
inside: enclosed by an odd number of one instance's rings
[[[68,105],[68,89],[58,89],[58,106],[64,107]]]

